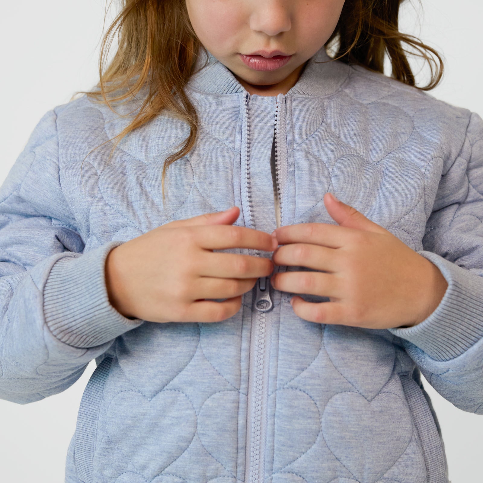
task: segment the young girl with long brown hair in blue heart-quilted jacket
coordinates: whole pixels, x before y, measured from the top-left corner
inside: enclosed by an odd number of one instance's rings
[[[96,358],[66,482],[448,482],[420,373],[483,413],[483,121],[414,86],[404,43],[442,65],[399,3],[126,0],[43,116],[0,190],[0,397]]]

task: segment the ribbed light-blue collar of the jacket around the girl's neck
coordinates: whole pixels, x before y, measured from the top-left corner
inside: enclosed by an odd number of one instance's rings
[[[198,58],[196,70],[200,69],[205,61],[206,56],[202,53]],[[325,47],[322,47],[309,59],[297,83],[287,92],[287,95],[326,96],[335,92],[348,75],[348,66],[339,61],[333,61],[327,55]],[[212,94],[233,94],[245,91],[233,73],[210,52],[208,52],[208,64],[191,77],[188,88]]]

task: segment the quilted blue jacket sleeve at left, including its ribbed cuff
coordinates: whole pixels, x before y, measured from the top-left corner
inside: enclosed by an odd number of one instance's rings
[[[70,387],[144,322],[109,303],[105,259],[122,241],[82,253],[58,166],[54,109],[0,187],[0,398],[21,404]]]

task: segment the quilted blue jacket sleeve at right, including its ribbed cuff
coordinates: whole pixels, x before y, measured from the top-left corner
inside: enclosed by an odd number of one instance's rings
[[[483,121],[471,114],[465,141],[443,172],[420,255],[448,282],[436,310],[389,329],[441,396],[483,414]]]

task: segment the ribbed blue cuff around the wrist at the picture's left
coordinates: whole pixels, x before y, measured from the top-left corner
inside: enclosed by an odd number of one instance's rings
[[[45,323],[57,339],[73,347],[101,345],[139,327],[109,302],[105,263],[109,252],[123,243],[111,241],[81,256],[60,258],[43,290]]]

